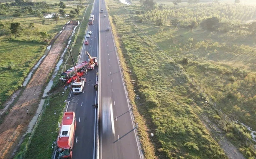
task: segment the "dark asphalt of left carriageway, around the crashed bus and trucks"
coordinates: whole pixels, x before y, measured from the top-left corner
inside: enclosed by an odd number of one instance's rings
[[[88,30],[92,31],[90,38],[88,40],[89,45],[83,45],[82,52],[80,55],[79,63],[88,60],[88,55],[85,54],[86,51],[90,53],[91,56],[97,57],[98,51],[98,30],[99,30],[99,0],[95,0],[94,6],[92,7],[92,15],[95,16],[94,24],[88,25]],[[84,20],[88,22],[88,20]],[[95,39],[96,37],[96,39]],[[82,42],[81,42],[82,43]],[[100,64],[99,64],[100,65]],[[96,102],[96,91],[93,84],[96,83],[96,72],[95,70],[88,71],[86,77],[86,84],[84,86],[84,91],[81,94],[70,94],[69,105],[67,111],[74,111],[76,114],[77,129],[75,133],[74,149],[73,149],[73,159],[95,159],[95,114],[96,110],[92,107],[92,104]]]

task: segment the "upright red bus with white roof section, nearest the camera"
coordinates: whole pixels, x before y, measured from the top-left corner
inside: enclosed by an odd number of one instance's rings
[[[72,159],[76,126],[75,113],[65,112],[57,140],[59,151],[58,159]]]

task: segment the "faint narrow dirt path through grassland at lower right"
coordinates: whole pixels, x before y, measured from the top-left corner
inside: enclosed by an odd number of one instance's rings
[[[212,132],[212,134],[214,135],[214,139],[216,140],[217,138],[216,141],[224,150],[225,154],[228,156],[229,159],[246,159],[245,157],[243,157],[243,154],[239,152],[238,148],[228,141],[225,133],[221,129],[219,129],[215,123],[211,122],[206,116],[204,116],[203,119],[203,124],[210,132]]]

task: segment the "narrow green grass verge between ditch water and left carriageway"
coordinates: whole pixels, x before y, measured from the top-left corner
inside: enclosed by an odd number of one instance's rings
[[[85,15],[82,11],[79,15],[79,21],[82,22],[82,17],[84,16],[84,22],[80,23],[81,26],[78,25],[79,29],[77,28],[77,31],[72,38],[73,57],[79,56],[79,50],[82,46],[81,41],[84,38],[84,30],[87,27],[87,20],[90,17],[92,4],[88,5],[88,7],[85,7],[84,9],[86,8],[87,10],[85,12]],[[72,65],[72,62],[69,62],[70,58],[68,58],[68,54],[69,52],[66,53],[64,61],[67,61],[67,64]],[[59,74],[61,73],[62,72],[60,69]],[[24,149],[26,143],[28,142],[28,139],[25,138],[23,144],[21,144],[20,146],[19,152],[15,155],[15,159],[20,159],[20,157],[25,157],[26,159],[51,158],[51,155],[53,153],[51,144],[56,140],[56,137],[59,134],[58,122],[61,123],[64,108],[67,104],[67,102],[64,101],[66,101],[69,95],[69,88],[65,91],[64,94],[61,93],[63,92],[64,88],[61,87],[61,84],[60,86],[58,86],[59,74],[56,75],[56,79],[54,80],[55,86],[57,87],[52,88],[50,91],[49,102],[45,103],[46,105],[49,103],[49,105],[46,106],[44,113],[41,114],[41,120],[39,121],[39,123],[37,123],[38,127],[36,128],[36,131],[31,138],[31,143],[28,147],[26,147],[26,149]]]

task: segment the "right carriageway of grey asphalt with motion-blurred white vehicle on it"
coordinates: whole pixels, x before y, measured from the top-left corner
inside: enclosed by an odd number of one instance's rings
[[[100,159],[141,159],[104,0],[101,8]]]

